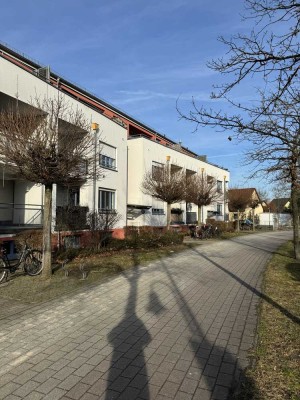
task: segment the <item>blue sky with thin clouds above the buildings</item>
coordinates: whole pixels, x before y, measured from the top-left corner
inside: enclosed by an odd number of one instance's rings
[[[261,188],[266,182],[247,180],[249,167],[241,165],[245,146],[211,128],[193,133],[176,111],[177,99],[182,110],[192,97],[213,105],[220,76],[206,63],[225,54],[218,36],[249,31],[242,12],[241,0],[10,0],[1,6],[1,41],[206,154],[230,170],[231,186]],[[249,99],[245,86],[234,95]]]

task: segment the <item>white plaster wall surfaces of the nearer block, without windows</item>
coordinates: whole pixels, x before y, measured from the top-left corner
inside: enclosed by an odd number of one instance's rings
[[[80,109],[88,121],[97,123],[99,130],[96,133],[97,153],[104,147],[103,143],[115,149],[115,166],[109,168],[102,166],[103,173],[94,182],[87,182],[80,187],[80,206],[86,206],[92,211],[99,207],[99,190],[104,189],[114,193],[115,208],[121,215],[116,228],[126,225],[126,170],[127,170],[127,130],[115,123],[100,112],[85,104],[62,94],[57,88],[45,82],[26,70],[19,68],[13,63],[0,57],[0,105],[6,107],[16,101],[20,103],[34,104],[36,98],[57,98],[61,95],[67,104],[73,109]],[[91,130],[91,135],[95,135]],[[4,177],[0,189],[0,216],[6,214],[7,222],[13,224],[38,224],[41,223],[41,211],[38,210],[43,204],[43,187],[29,182],[22,182],[17,177],[6,174],[4,166],[0,166],[1,175]],[[62,188],[54,189],[53,209],[64,205],[66,193]],[[4,207],[4,203],[14,203],[14,208]],[[19,205],[19,206],[18,206]],[[24,207],[26,206],[26,207]],[[18,210],[19,208],[19,210]],[[4,219],[4,215],[2,215]],[[1,219],[2,219],[1,218]],[[3,221],[3,220],[2,220]],[[5,219],[6,221],[6,219]]]

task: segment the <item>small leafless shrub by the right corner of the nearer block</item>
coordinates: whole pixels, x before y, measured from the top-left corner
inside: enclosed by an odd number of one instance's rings
[[[112,229],[120,220],[121,215],[113,210],[88,213],[87,223],[92,235],[92,246],[95,249],[106,244],[111,237]]]

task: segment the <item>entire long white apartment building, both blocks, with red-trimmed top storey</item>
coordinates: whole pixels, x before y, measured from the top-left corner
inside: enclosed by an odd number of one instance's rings
[[[184,168],[187,173],[204,170],[217,180],[220,199],[204,208],[207,217],[225,219],[226,185],[229,172],[199,157],[189,149],[149,128],[135,118],[118,110],[102,99],[86,92],[53,73],[49,67],[0,44],[0,108],[10,104],[28,107],[36,97],[57,97],[61,94],[68,104],[82,110],[91,123],[99,126],[90,134],[95,139],[95,156],[103,168],[103,175],[93,182],[78,183],[66,189],[55,185],[53,190],[53,229],[63,207],[77,207],[78,215],[102,209],[116,210],[121,220],[114,235],[121,237],[127,225],[164,225],[165,204],[144,196],[140,183],[144,173],[155,163]],[[92,124],[91,124],[92,125]],[[0,236],[9,236],[24,228],[41,227],[44,188],[21,180],[8,168],[0,165]],[[196,207],[191,204],[173,206],[173,222],[194,222]]]

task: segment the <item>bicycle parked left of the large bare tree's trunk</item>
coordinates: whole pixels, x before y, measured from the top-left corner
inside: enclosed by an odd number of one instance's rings
[[[29,276],[36,276],[42,272],[42,252],[31,249],[25,242],[24,247],[17,260],[9,260],[4,248],[0,249],[0,283],[7,280],[8,273],[13,274],[23,267]]]

